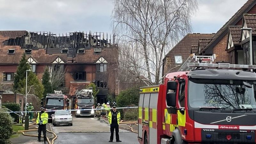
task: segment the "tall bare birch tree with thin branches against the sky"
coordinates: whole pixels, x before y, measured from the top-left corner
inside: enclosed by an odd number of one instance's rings
[[[196,0],[114,0],[114,4],[114,31],[125,58],[120,56],[120,68],[158,84],[164,54],[191,30]],[[131,69],[123,68],[125,64]]]

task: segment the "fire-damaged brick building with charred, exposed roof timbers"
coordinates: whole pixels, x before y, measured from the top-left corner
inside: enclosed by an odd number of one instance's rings
[[[98,102],[103,103],[107,93],[115,94],[118,46],[104,39],[104,33],[73,32],[65,35],[51,32],[0,31],[0,75],[2,83],[12,84],[23,53],[39,80],[44,68],[50,75],[58,71],[65,75],[65,94],[95,83],[100,90]],[[0,77],[1,77],[0,76]]]

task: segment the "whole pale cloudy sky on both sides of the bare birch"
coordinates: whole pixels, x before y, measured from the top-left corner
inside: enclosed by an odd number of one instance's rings
[[[215,33],[247,0],[198,0],[196,33]],[[0,30],[111,33],[112,0],[0,0]]]

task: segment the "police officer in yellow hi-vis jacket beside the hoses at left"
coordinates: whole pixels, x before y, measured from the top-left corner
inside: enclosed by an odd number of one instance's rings
[[[46,124],[48,123],[48,114],[44,111],[45,108],[41,108],[41,112],[38,113],[36,124],[38,125],[38,141],[41,142],[41,132],[43,131],[44,143],[46,143]]]

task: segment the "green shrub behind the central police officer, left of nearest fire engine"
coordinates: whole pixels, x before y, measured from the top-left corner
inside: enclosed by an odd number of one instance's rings
[[[139,92],[139,88],[129,88],[120,92],[120,94],[116,97],[117,107],[127,107],[130,105],[138,106]],[[118,109],[118,111],[121,113],[121,118],[124,118],[123,110]]]

